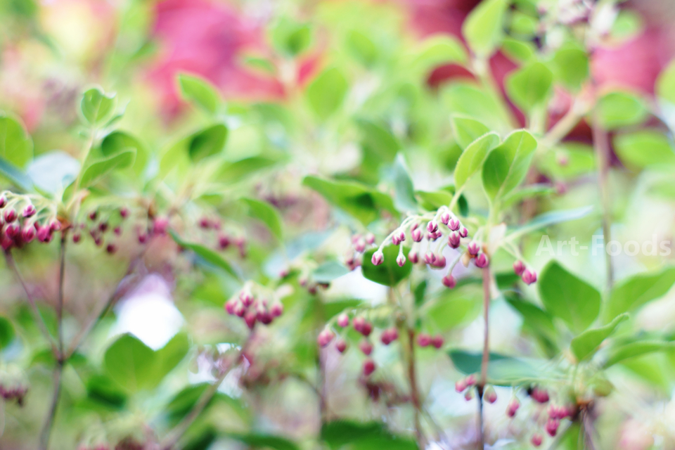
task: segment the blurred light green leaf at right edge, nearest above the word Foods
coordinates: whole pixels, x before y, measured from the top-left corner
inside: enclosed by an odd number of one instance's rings
[[[614,138],[614,148],[621,162],[629,167],[665,166],[668,169],[675,165],[670,140],[657,130],[619,134]]]

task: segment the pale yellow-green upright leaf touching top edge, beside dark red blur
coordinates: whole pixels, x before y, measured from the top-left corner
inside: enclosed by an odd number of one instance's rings
[[[505,0],[485,0],[473,8],[462,25],[469,48],[487,58],[496,51],[503,36]]]

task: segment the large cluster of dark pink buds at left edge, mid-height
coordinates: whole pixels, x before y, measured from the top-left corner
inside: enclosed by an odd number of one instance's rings
[[[38,240],[50,243],[61,223],[53,207],[38,210],[26,195],[0,194],[0,245],[3,250],[22,248]]]

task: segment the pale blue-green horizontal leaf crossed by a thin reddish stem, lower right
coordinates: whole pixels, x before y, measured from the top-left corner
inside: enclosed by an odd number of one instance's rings
[[[482,352],[450,350],[448,352],[455,368],[466,375],[480,373]],[[489,354],[487,366],[488,383],[496,386],[510,386],[525,380],[544,378],[544,364],[547,361],[513,358],[498,353]]]

